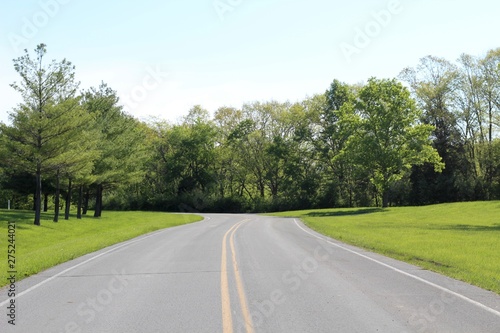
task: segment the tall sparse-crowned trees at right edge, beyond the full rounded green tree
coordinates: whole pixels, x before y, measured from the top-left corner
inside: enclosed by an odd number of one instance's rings
[[[435,127],[433,146],[446,165],[442,174],[428,165],[414,169],[411,203],[495,198],[499,54],[463,54],[457,64],[429,56],[402,72],[424,111],[422,121]]]

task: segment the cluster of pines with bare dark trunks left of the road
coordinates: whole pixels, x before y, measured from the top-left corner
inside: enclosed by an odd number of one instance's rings
[[[25,51],[14,60],[20,80],[11,86],[23,102],[9,114],[11,125],[0,124],[2,198],[20,208],[32,201],[35,225],[49,197],[54,222],[59,220],[62,195],[65,219],[72,200],[81,218],[91,197],[94,216],[100,217],[104,191],[144,175],[145,126],[122,111],[116,92],[106,84],[78,91],[71,62],[46,64],[46,53],[40,44],[34,58]]]

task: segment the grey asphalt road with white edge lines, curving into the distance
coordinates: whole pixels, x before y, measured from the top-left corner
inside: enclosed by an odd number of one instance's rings
[[[205,215],[7,289],[0,332],[500,332],[500,296],[294,219]]]

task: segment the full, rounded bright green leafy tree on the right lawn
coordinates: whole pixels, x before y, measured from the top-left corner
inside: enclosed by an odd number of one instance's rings
[[[382,207],[389,203],[389,189],[413,165],[444,165],[431,146],[431,125],[420,124],[421,112],[409,91],[396,80],[371,78],[361,88],[353,119],[359,132],[351,136],[347,150],[355,152],[359,165],[371,171],[371,182],[382,195]]]

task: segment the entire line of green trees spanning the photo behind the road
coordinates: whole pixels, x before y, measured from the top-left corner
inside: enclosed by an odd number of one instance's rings
[[[0,193],[43,207],[276,211],[500,198],[500,49],[428,56],[397,79],[334,80],[300,102],[194,106],[141,122],[102,83],[78,91],[45,45],[14,61],[23,103],[2,124]],[[73,189],[76,194],[73,193]],[[42,200],[44,198],[45,200]],[[92,200],[90,200],[92,199]],[[43,204],[42,201],[45,201]],[[89,203],[90,202],[90,203]]]

